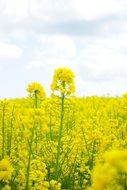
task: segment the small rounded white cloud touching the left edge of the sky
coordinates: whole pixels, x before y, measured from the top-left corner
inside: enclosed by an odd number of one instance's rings
[[[19,57],[22,49],[14,44],[0,43],[0,57]]]

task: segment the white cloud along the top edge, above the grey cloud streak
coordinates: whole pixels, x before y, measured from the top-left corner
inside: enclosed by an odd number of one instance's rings
[[[42,0],[31,1],[34,16],[45,21],[86,19],[95,20],[108,15],[126,13],[125,0]]]

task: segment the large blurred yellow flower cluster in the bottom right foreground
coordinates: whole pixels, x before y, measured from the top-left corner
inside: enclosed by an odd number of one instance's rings
[[[92,175],[91,190],[123,189],[126,184],[127,151],[113,150],[104,154],[104,163],[97,164]]]

